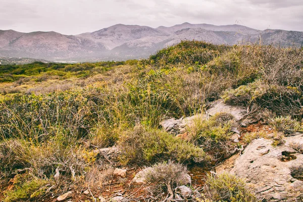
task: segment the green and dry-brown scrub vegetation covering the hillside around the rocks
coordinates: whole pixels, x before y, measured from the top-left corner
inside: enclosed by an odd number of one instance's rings
[[[44,182],[58,187],[41,191],[43,197],[72,185],[102,187],[113,179],[114,165],[156,164],[167,175],[170,169],[183,172],[181,164],[218,163],[241,146],[230,140],[235,124],[230,114],[196,119],[187,127],[188,138],[165,132],[159,123],[201,114],[220,97],[276,113],[271,124],[277,131],[301,130],[302,76],[301,49],[199,41],[183,41],[140,61],[2,65],[0,183],[18,169],[31,169],[31,177],[14,185],[5,200],[27,200],[34,193],[38,198],[35,191]],[[244,141],[261,136],[245,135]],[[282,140],[276,137],[276,144]],[[120,149],[115,162],[94,151],[110,146]],[[167,184],[154,174],[151,181]],[[171,188],[177,184],[170,181]],[[253,201],[233,176],[210,176],[207,184],[215,201]]]

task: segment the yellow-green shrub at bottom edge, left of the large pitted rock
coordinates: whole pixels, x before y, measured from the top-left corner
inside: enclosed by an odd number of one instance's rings
[[[256,202],[255,193],[249,189],[245,181],[233,174],[208,174],[205,183],[205,195],[213,201],[222,202]]]

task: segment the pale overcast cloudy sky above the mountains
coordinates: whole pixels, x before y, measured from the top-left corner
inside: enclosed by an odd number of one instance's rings
[[[303,0],[1,0],[0,30],[92,32],[189,22],[303,31]]]

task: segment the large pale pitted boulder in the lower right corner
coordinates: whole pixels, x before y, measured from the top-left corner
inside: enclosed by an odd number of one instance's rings
[[[285,137],[285,141],[284,145],[274,147],[272,140],[253,140],[230,172],[247,179],[248,185],[267,201],[284,198],[300,201],[303,181],[299,176],[303,175],[303,154],[296,153],[289,144],[303,142],[303,136]]]

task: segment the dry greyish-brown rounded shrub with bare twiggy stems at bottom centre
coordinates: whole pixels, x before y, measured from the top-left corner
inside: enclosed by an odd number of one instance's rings
[[[168,191],[170,194],[174,188],[186,185],[188,181],[186,167],[171,161],[147,168],[142,176],[152,184],[155,192]]]

